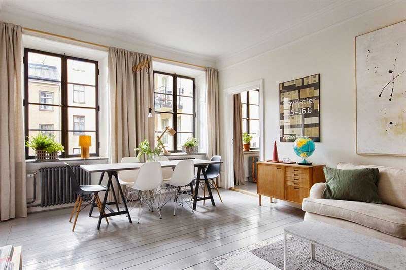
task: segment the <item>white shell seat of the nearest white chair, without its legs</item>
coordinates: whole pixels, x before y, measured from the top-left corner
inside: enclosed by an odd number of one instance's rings
[[[160,162],[143,163],[138,170],[133,188],[141,191],[153,190],[162,184],[162,167]]]

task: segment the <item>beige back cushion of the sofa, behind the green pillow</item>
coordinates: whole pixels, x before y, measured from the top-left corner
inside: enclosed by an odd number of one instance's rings
[[[339,163],[337,169],[353,170],[361,168],[378,168],[378,195],[382,203],[406,209],[406,170],[384,166],[356,165]]]

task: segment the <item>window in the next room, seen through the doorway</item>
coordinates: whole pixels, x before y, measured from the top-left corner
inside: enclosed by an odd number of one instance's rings
[[[259,90],[243,92],[241,105],[243,109],[243,132],[252,135],[251,149],[259,149]]]

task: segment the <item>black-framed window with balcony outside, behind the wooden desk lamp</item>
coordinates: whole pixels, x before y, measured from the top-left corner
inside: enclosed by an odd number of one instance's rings
[[[165,127],[174,128],[162,142],[168,151],[181,151],[182,144],[195,134],[194,78],[154,71],[155,136]]]

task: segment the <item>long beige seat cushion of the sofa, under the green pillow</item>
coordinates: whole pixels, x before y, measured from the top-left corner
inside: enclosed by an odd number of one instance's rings
[[[340,218],[406,238],[406,209],[365,202],[304,198],[302,208],[306,212]]]

